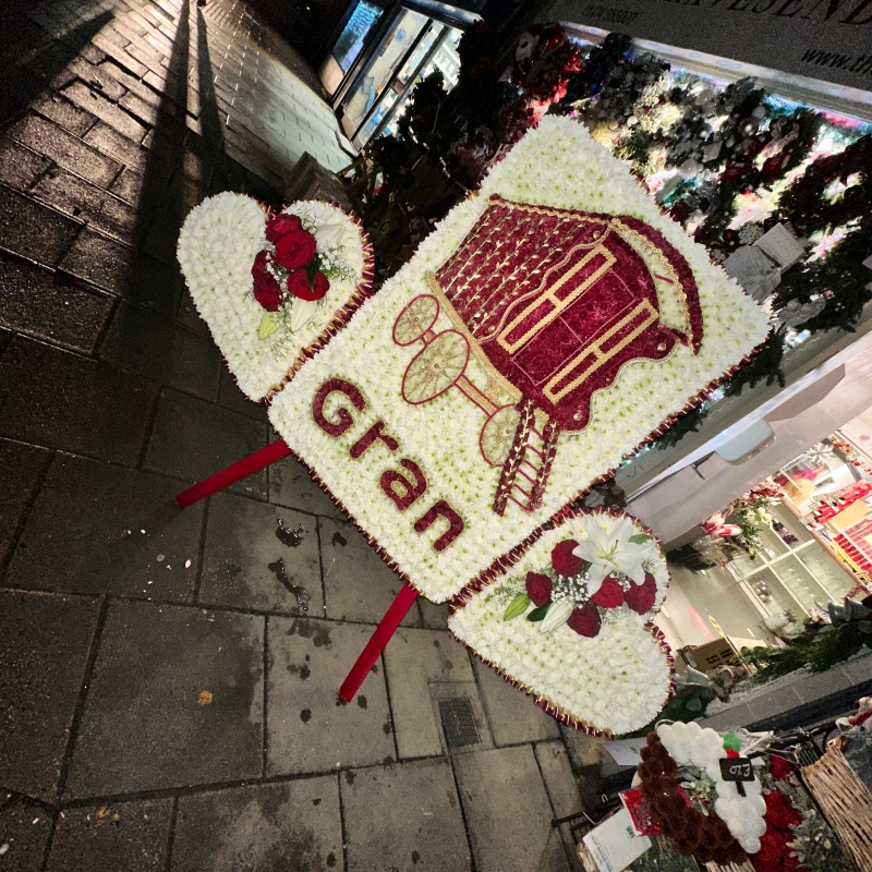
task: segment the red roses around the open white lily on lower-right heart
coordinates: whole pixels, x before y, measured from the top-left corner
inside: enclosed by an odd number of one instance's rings
[[[573,538],[559,542],[552,549],[552,567],[558,576],[572,578],[583,572],[588,568],[588,562],[572,554],[573,548],[578,547],[578,542]],[[552,602],[552,591],[554,585],[552,580],[540,572],[526,573],[526,595],[537,608]],[[608,576],[603,579],[600,590],[591,596],[590,603],[576,608],[569,616],[567,626],[574,630],[579,635],[586,635],[589,639],[600,634],[602,619],[601,608],[618,608],[626,603],[633,611],[644,615],[654,606],[657,598],[657,582],[651,572],[645,573],[642,584],[630,584],[629,590],[623,590],[621,583]]]

